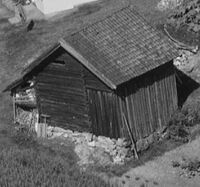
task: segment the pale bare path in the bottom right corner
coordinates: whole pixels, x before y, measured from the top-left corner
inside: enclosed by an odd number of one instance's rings
[[[199,187],[200,176],[190,179],[180,177],[180,169],[172,167],[172,161],[180,162],[182,158],[200,160],[200,137],[143,166],[131,169],[120,178],[112,178],[111,181],[124,187]]]

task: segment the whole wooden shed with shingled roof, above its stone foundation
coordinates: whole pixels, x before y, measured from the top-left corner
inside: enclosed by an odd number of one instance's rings
[[[124,115],[141,139],[177,109],[177,56],[128,6],[62,38],[6,90],[16,121],[29,112],[31,123],[47,118],[51,126],[118,138],[128,136]]]

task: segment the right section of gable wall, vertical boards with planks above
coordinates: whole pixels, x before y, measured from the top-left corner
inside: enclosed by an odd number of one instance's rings
[[[93,133],[112,138],[120,137],[122,119],[118,96],[85,67],[83,73]]]

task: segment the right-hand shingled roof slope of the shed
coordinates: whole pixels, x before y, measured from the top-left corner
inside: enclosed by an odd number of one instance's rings
[[[113,88],[178,56],[172,42],[132,6],[65,37],[62,43]]]

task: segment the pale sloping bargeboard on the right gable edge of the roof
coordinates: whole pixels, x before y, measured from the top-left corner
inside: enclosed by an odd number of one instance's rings
[[[79,60],[86,68],[94,73],[100,80],[102,80],[111,89],[116,89],[116,85],[113,84],[107,77],[105,77],[99,70],[97,70],[87,59],[85,59],[80,53],[78,53],[72,46],[70,46],[64,39],[60,39],[60,45]]]

